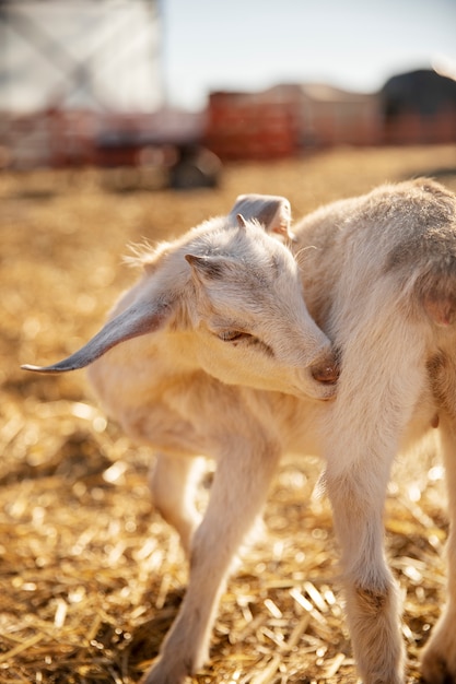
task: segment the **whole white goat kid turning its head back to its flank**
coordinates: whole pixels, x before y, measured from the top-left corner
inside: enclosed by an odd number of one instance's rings
[[[82,367],[124,342],[94,363],[92,382],[125,429],[160,450],[155,502],[191,564],[178,617],[143,682],[179,684],[204,662],[230,563],[280,455],[299,450],[326,457],[360,674],[365,684],[400,684],[382,517],[396,452],[437,425],[456,516],[456,198],[425,180],[384,186],[311,214],[289,249],[255,223],[236,226],[241,205],[267,232],[287,232],[285,203],[243,196],[227,219],[144,258],[143,279],[115,318],[69,359],[40,369]],[[337,379],[328,338],[341,365],[332,402],[317,401]],[[201,523],[197,461],[183,458],[199,453],[218,462]],[[453,533],[448,545],[452,561]],[[432,684],[456,679],[454,567],[423,657]]]

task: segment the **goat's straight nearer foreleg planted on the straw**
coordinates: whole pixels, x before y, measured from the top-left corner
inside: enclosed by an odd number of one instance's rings
[[[230,438],[226,438],[226,441]],[[268,492],[279,450],[236,439],[236,452],[221,458],[208,509],[195,533],[190,578],[179,614],[157,662],[142,684],[182,684],[209,654],[212,623],[233,558],[252,529]]]

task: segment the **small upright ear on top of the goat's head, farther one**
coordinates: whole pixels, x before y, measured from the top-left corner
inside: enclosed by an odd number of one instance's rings
[[[245,221],[256,220],[268,233],[277,233],[288,239],[295,239],[291,226],[291,207],[287,198],[276,194],[239,194],[230,217],[242,216]]]

